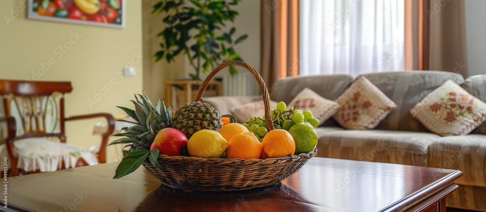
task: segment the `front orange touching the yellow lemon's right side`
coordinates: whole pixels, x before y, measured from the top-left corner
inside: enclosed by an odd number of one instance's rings
[[[233,136],[226,148],[226,158],[259,159],[261,143],[253,132],[243,132]]]

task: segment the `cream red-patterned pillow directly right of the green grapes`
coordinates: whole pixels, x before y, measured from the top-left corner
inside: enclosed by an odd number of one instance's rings
[[[321,97],[310,88],[304,88],[304,90],[298,93],[297,96],[292,99],[288,108],[294,108],[294,105],[298,110],[312,111],[312,116],[319,119],[319,126],[339,109],[338,103]]]

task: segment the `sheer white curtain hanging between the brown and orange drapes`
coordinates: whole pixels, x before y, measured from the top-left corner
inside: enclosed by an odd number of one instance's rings
[[[301,0],[299,75],[404,70],[403,0]]]

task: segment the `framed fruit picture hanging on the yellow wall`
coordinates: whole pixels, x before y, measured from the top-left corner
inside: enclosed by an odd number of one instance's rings
[[[29,0],[28,18],[125,28],[125,0]]]

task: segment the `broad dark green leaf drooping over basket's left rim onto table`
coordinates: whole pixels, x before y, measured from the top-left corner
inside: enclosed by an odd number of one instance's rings
[[[145,159],[147,159],[149,154],[150,151],[146,149],[137,149],[128,153],[128,155],[121,160],[120,164],[118,164],[113,179],[120,179],[137,170]]]

